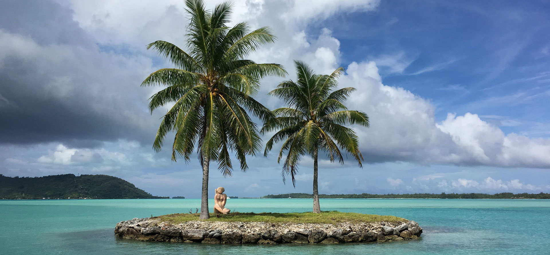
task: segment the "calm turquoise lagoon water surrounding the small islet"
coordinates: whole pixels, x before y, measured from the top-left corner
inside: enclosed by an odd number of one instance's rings
[[[213,204],[213,201],[210,202]],[[230,199],[239,212],[306,212],[312,199]],[[397,215],[419,240],[339,245],[203,245],[116,239],[134,217],[189,212],[200,199],[0,201],[0,254],[550,254],[550,200],[321,199],[323,210]]]

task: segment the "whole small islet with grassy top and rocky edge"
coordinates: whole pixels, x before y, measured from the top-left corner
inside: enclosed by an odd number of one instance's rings
[[[415,221],[394,216],[322,213],[168,214],[122,221],[114,229],[124,239],[200,243],[343,243],[418,239]]]

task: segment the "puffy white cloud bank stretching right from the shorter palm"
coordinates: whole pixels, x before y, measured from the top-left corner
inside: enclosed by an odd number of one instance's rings
[[[505,135],[472,113],[449,113],[438,123],[430,101],[383,85],[375,62],[351,63],[340,85],[357,88],[348,108],[369,115],[370,128],[354,129],[370,162],[550,168],[550,139]]]

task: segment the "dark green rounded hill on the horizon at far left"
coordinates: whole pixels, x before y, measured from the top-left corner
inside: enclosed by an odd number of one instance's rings
[[[0,174],[0,199],[168,198],[156,197],[133,184],[109,175],[62,174],[43,177],[8,177]]]

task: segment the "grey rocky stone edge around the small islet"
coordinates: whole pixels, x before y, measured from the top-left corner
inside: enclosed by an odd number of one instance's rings
[[[156,218],[134,218],[118,223],[114,234],[124,239],[157,242],[340,243],[418,239],[422,228],[415,221],[300,224],[193,220],[174,225]]]

